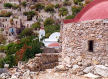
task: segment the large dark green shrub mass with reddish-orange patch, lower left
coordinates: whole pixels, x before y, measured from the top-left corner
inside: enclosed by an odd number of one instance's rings
[[[13,67],[17,65],[17,52],[19,52],[22,47],[23,51],[23,57],[21,60],[26,61],[29,58],[35,57],[35,54],[42,53],[41,46],[43,46],[43,43],[39,42],[38,39],[35,39],[35,36],[32,34],[30,36],[26,36],[21,38],[19,42],[16,43],[10,43],[7,46],[4,46],[3,50],[5,50],[7,56],[3,59],[0,59],[0,68],[4,67],[4,64],[9,64],[9,67]],[[27,47],[24,47],[24,45],[27,45]]]

